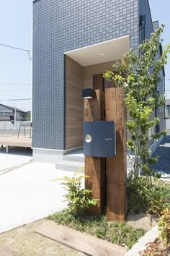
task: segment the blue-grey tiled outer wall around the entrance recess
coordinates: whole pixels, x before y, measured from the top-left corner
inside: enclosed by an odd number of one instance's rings
[[[138,46],[138,0],[33,2],[34,148],[65,148],[63,52],[122,35]]]

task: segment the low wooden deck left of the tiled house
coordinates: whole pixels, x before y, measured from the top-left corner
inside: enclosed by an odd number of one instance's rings
[[[6,153],[8,153],[10,146],[31,148],[32,139],[29,137],[3,137],[0,138],[0,145],[1,148],[6,145]]]

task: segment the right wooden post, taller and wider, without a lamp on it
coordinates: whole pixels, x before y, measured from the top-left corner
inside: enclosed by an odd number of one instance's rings
[[[126,110],[123,88],[105,90],[106,121],[116,121],[116,156],[107,158],[107,218],[124,221],[126,201]]]

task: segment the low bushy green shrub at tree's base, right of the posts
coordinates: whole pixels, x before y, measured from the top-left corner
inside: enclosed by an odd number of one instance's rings
[[[128,209],[134,212],[148,212],[161,216],[164,208],[170,208],[169,184],[152,178],[152,182],[146,177],[128,179],[127,184]]]

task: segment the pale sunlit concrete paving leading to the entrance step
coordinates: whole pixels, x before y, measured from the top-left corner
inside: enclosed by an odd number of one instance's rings
[[[30,156],[0,154],[1,168],[8,163],[30,161]],[[21,160],[19,162],[19,160]],[[26,223],[45,218],[51,213],[66,208],[63,195],[66,193],[61,181],[55,177],[73,176],[71,171],[60,171],[50,163],[27,163],[19,168],[0,172],[0,233]]]

